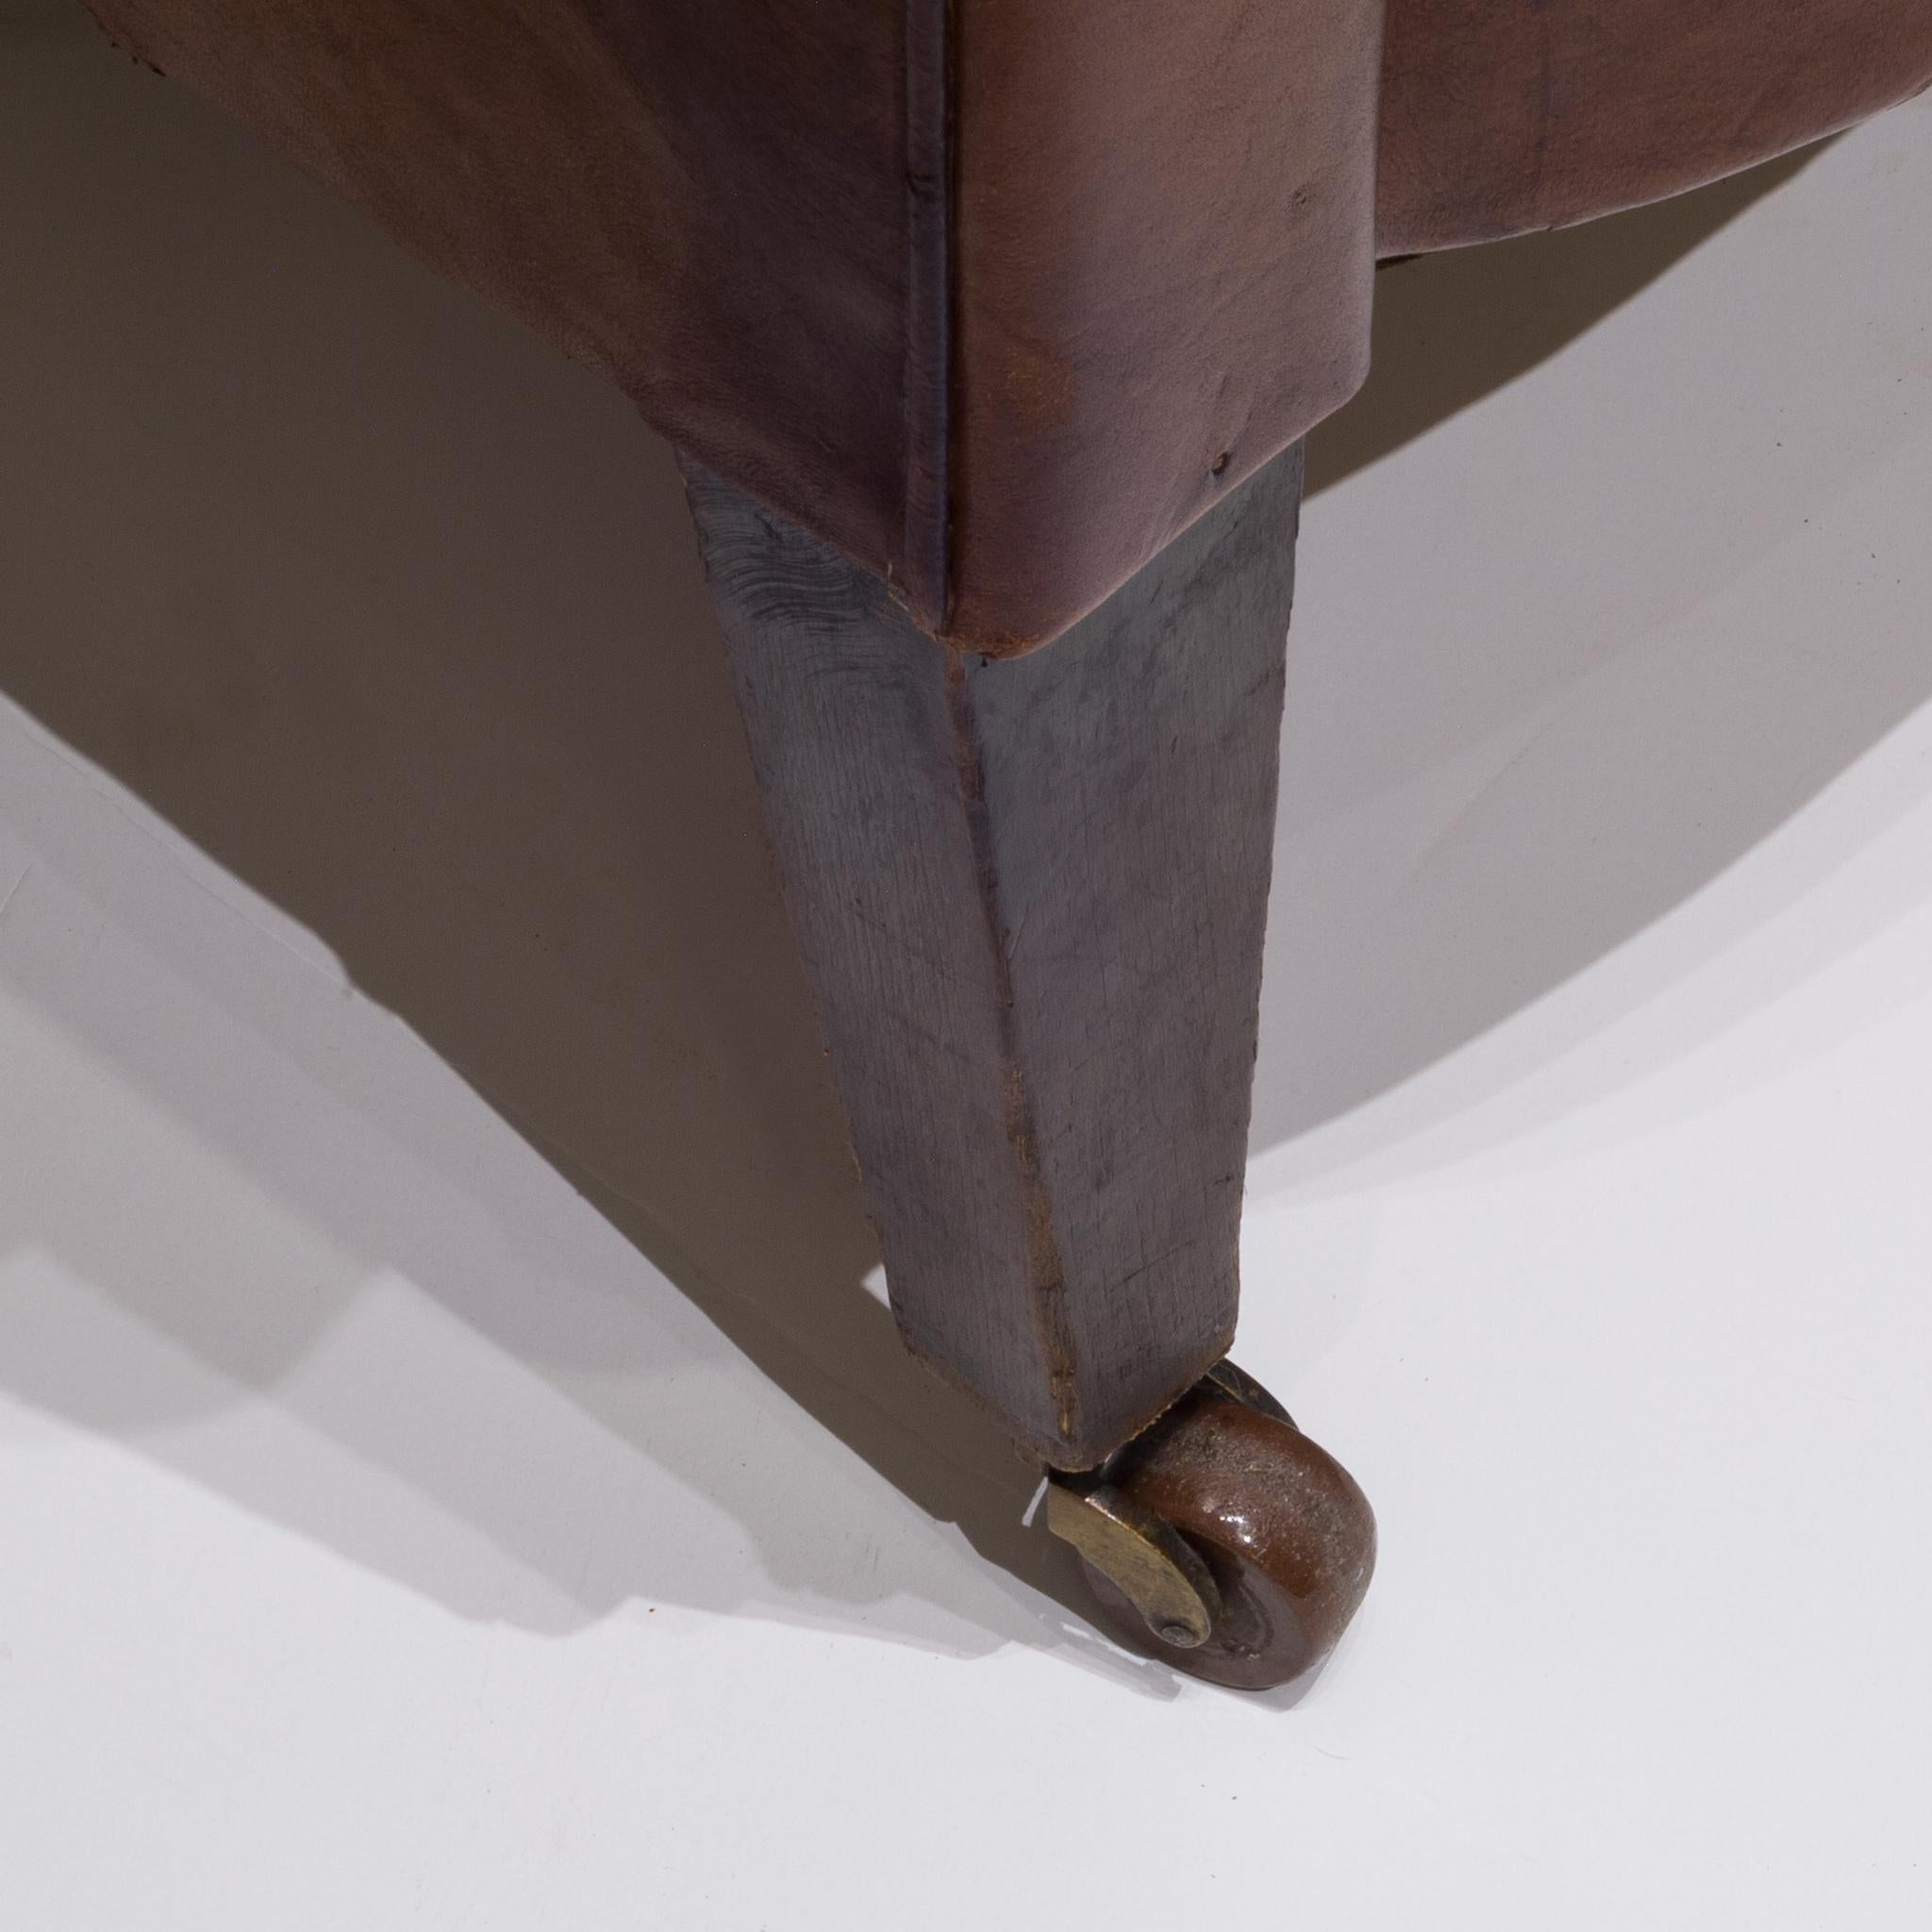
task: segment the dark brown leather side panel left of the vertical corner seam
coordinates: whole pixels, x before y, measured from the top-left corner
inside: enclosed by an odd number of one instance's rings
[[[87,0],[108,33],[879,572],[904,543],[902,8]]]

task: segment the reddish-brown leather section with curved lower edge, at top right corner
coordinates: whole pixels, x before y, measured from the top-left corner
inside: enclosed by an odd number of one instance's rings
[[[1389,0],[1383,255],[1609,214],[1932,81],[1932,0]]]

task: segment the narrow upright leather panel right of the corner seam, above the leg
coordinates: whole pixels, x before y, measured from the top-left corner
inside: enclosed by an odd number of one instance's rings
[[[1381,0],[964,0],[951,630],[1065,630],[1368,373]]]

